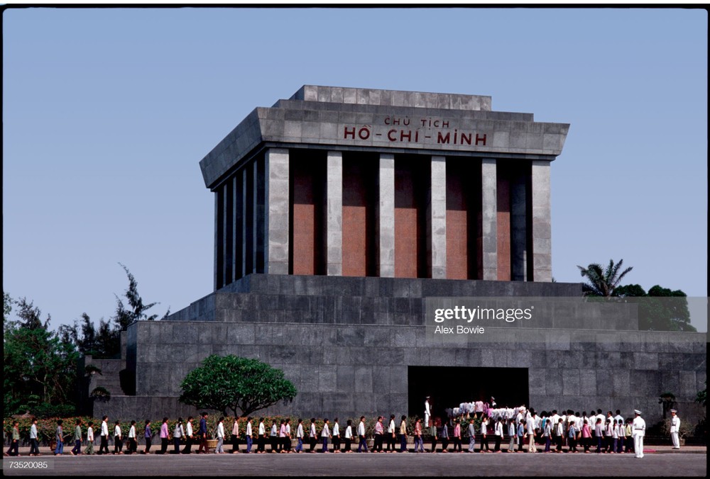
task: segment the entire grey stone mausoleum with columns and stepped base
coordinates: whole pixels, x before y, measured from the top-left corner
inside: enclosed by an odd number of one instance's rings
[[[425,395],[439,414],[491,395],[647,421],[666,391],[690,407],[705,334],[639,331],[631,305],[552,282],[568,130],[490,96],[307,85],[256,108],[200,162],[214,292],[129,326],[121,390],[94,414],[195,415],[180,381],[209,354],[281,368],[298,394],[268,412],[305,417],[421,415]],[[435,298],[535,298],[540,313],[449,340],[427,333]]]

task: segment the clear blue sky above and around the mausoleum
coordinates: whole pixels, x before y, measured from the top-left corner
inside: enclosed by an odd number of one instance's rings
[[[682,9],[11,9],[3,289],[53,326],[212,291],[198,162],[302,84],[481,94],[571,123],[552,266],[707,295],[707,14]]]

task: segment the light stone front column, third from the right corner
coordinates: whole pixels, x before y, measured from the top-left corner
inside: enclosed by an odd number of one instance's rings
[[[446,278],[446,157],[432,157],[427,263],[431,278]]]

